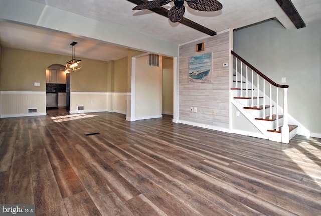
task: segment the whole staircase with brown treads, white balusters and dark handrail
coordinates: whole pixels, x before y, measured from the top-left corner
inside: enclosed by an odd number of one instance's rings
[[[233,82],[232,104],[242,113],[266,139],[289,143],[296,135],[295,125],[288,124],[287,89],[258,71],[232,51]],[[283,101],[279,101],[279,92]]]

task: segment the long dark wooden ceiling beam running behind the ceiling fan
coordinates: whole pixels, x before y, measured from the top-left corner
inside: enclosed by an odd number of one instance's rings
[[[147,2],[148,0],[128,0],[129,2],[132,2],[132,3],[135,3],[137,5],[141,4],[141,3],[144,3],[144,2]],[[160,14],[160,15],[163,15],[164,17],[168,17],[168,14],[169,14],[169,10],[163,8],[163,7],[158,7],[158,8],[153,8],[153,9],[149,9],[150,11],[153,11],[157,14]],[[195,23],[193,22],[192,20],[189,20],[185,17],[183,17],[179,23],[182,23],[183,25],[185,26],[189,26],[195,30],[198,30],[200,32],[203,32],[205,34],[208,34],[208,35],[216,35],[216,32],[214,32],[213,30],[211,29],[208,29],[198,23]]]

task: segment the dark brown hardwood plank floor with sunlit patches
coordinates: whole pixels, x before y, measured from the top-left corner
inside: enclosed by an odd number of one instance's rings
[[[321,139],[108,112],[5,118],[0,182],[0,203],[36,215],[321,215]]]

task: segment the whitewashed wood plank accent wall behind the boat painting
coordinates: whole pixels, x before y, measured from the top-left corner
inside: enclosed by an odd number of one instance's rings
[[[179,120],[229,128],[229,62],[230,33],[225,32],[179,48]],[[204,42],[204,51],[196,44]],[[189,83],[189,58],[212,52],[212,82]],[[197,112],[191,112],[196,107]],[[215,115],[213,115],[215,110]]]

